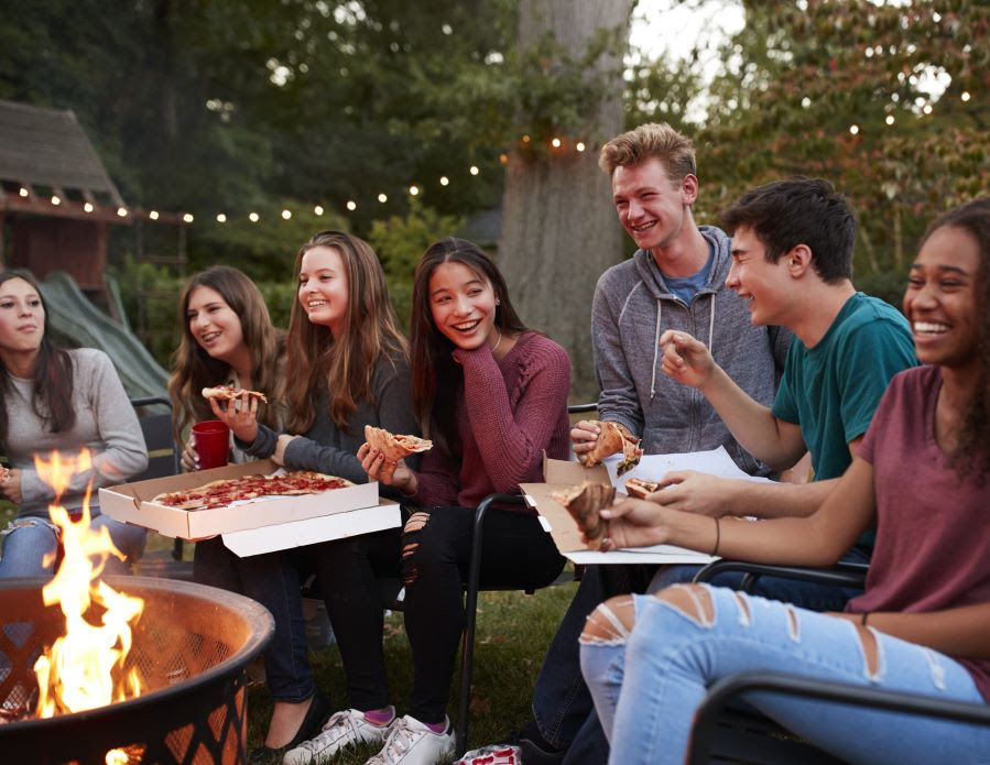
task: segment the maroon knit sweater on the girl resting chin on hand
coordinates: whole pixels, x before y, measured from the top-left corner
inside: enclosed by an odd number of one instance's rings
[[[487,345],[458,348],[454,358],[464,369],[464,395],[450,404],[460,459],[437,449],[423,456],[418,504],[472,507],[492,492],[515,494],[520,483],[542,481],[544,450],[567,459],[570,360],[561,346],[527,331],[501,361]]]

